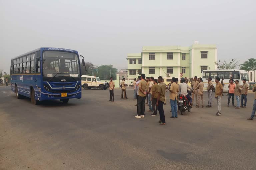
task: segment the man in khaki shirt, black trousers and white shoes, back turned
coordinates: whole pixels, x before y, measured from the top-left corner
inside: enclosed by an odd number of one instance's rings
[[[146,86],[145,74],[141,74],[141,81],[139,82],[139,95],[137,96],[137,116],[135,118],[144,118],[145,100],[146,100]]]

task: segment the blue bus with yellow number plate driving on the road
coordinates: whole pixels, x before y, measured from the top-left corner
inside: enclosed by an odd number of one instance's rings
[[[44,100],[82,97],[80,60],[77,51],[41,47],[11,59],[11,90],[16,98],[31,98],[37,105]],[[83,65],[84,59],[82,59]]]

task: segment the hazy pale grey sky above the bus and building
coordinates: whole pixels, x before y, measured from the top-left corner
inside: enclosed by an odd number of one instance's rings
[[[218,59],[256,58],[254,0],[0,0],[0,69],[39,47],[74,49],[95,65],[127,67],[146,45],[216,44]]]

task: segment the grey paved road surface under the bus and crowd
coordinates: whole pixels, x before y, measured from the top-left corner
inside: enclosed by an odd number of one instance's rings
[[[0,86],[0,170],[255,170],[256,120],[248,107],[193,108],[171,119],[136,119],[133,90],[114,103],[108,90],[83,90],[83,99],[32,105]],[[206,95],[205,95],[206,97]]]

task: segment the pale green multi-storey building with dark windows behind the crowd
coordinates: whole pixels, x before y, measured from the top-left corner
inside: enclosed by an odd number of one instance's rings
[[[216,61],[216,45],[143,46],[141,53],[127,55],[127,78],[133,80],[141,73],[162,76],[167,82],[172,77],[202,77],[202,70],[217,69]]]

